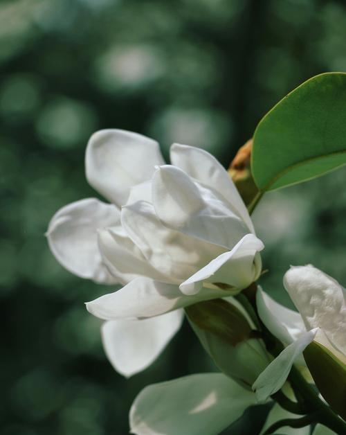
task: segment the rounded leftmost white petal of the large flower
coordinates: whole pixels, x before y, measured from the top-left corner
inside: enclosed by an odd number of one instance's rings
[[[120,222],[118,208],[89,198],[60,208],[49,222],[46,236],[55,258],[67,270],[99,283],[116,283],[102,263],[98,229]]]

